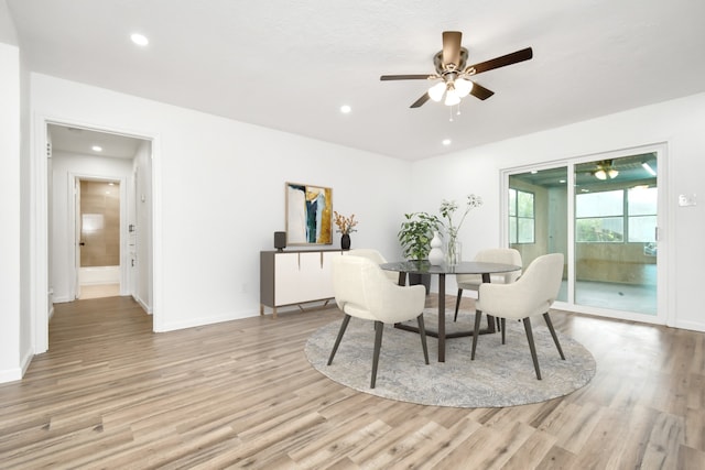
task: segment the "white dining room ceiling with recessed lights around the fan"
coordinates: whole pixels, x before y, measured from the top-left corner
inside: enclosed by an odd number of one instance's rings
[[[410,161],[705,91],[702,0],[7,2],[33,72]],[[445,30],[470,64],[534,56],[451,122],[409,108],[425,81],[379,80],[433,73]]]

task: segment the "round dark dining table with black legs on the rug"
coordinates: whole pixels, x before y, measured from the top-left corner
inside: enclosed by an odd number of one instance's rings
[[[446,338],[456,338],[464,336],[473,336],[473,331],[457,331],[452,335],[445,332],[445,276],[447,274],[479,274],[482,282],[490,282],[490,275],[497,273],[508,273],[521,270],[521,266],[502,263],[486,263],[476,261],[462,261],[455,265],[431,264],[427,260],[421,261],[395,261],[392,263],[380,264],[386,271],[399,272],[399,285],[406,284],[406,274],[431,274],[438,276],[438,330],[426,329],[426,335],[438,339],[438,362],[445,362],[445,340]],[[480,334],[496,332],[495,318],[487,316],[488,326],[480,330]],[[395,328],[409,331],[419,331],[419,328],[405,324],[397,324]]]

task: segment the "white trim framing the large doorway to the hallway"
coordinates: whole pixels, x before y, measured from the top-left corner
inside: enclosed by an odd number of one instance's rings
[[[127,130],[110,125],[84,122],[76,119],[35,114],[32,121],[32,149],[30,162],[31,179],[31,208],[30,208],[30,316],[32,349],[34,354],[48,350],[48,320],[53,311],[51,305],[52,292],[48,284],[48,125],[67,125],[88,129],[97,132],[106,132],[149,140],[152,142],[152,315],[153,330],[160,331],[164,319],[162,318],[162,250],[160,243],[161,232],[161,141],[160,135],[149,131]]]

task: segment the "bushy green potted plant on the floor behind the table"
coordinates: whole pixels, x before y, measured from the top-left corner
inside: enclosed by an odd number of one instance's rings
[[[426,212],[404,214],[404,221],[397,237],[401,243],[402,253],[408,260],[425,260],[431,251],[433,232],[438,231],[441,220],[436,216]],[[409,284],[423,284],[426,294],[431,288],[430,274],[409,274]]]

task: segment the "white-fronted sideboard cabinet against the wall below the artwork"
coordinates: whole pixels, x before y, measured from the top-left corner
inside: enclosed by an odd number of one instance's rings
[[[330,265],[340,250],[295,250],[260,252],[260,315],[264,307],[329,300],[333,295]]]

